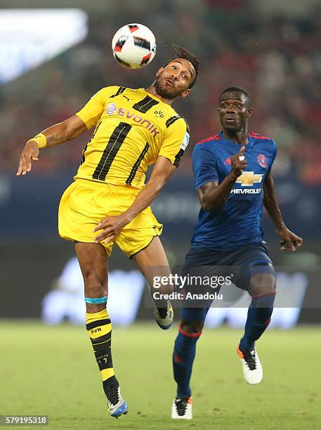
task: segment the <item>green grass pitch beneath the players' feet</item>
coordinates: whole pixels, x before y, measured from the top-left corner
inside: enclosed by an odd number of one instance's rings
[[[170,418],[176,332],[155,324],[114,327],[114,366],[129,403],[129,414],[114,419],[84,328],[2,321],[0,415],[49,415],[45,429],[320,429],[320,327],[266,332],[257,345],[264,370],[258,386],[242,378],[235,352],[241,332],[204,330],[192,421]]]

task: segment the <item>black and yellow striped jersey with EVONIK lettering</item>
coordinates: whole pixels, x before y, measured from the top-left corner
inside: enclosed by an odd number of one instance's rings
[[[190,138],[185,119],[145,89],[107,86],[76,115],[96,129],[75,178],[142,188],[157,157],[178,167]]]

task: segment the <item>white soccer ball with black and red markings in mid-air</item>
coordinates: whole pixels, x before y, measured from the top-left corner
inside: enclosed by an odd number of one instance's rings
[[[155,57],[155,36],[145,25],[124,25],[112,38],[112,53],[124,67],[144,67]]]

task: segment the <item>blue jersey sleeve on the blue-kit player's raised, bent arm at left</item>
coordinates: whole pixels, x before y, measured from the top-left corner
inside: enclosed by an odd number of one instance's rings
[[[192,154],[195,188],[209,182],[218,182],[217,159],[205,145],[195,145]]]

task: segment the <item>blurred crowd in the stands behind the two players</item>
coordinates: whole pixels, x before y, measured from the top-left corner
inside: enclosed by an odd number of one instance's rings
[[[122,13],[112,3],[114,13],[111,5],[106,14],[87,10],[89,37],[84,43],[0,87],[1,171],[14,171],[27,139],[73,115],[103,86],[151,84],[157,68],[172,56],[166,45],[175,42],[200,60],[190,97],[173,105],[191,131],[183,174],[192,174],[194,143],[220,129],[219,93],[240,85],[253,97],[250,131],[277,142],[274,176],[321,186],[321,5],[291,16],[260,14],[245,0],[195,1],[188,8],[182,1],[165,0],[154,2],[148,14],[145,2],[140,8],[139,1],[122,1]],[[136,71],[119,66],[110,48],[114,32],[129,22],[148,25],[158,44],[152,64]],[[81,146],[89,138],[81,136],[63,151],[42,151],[37,171],[76,171]]]

